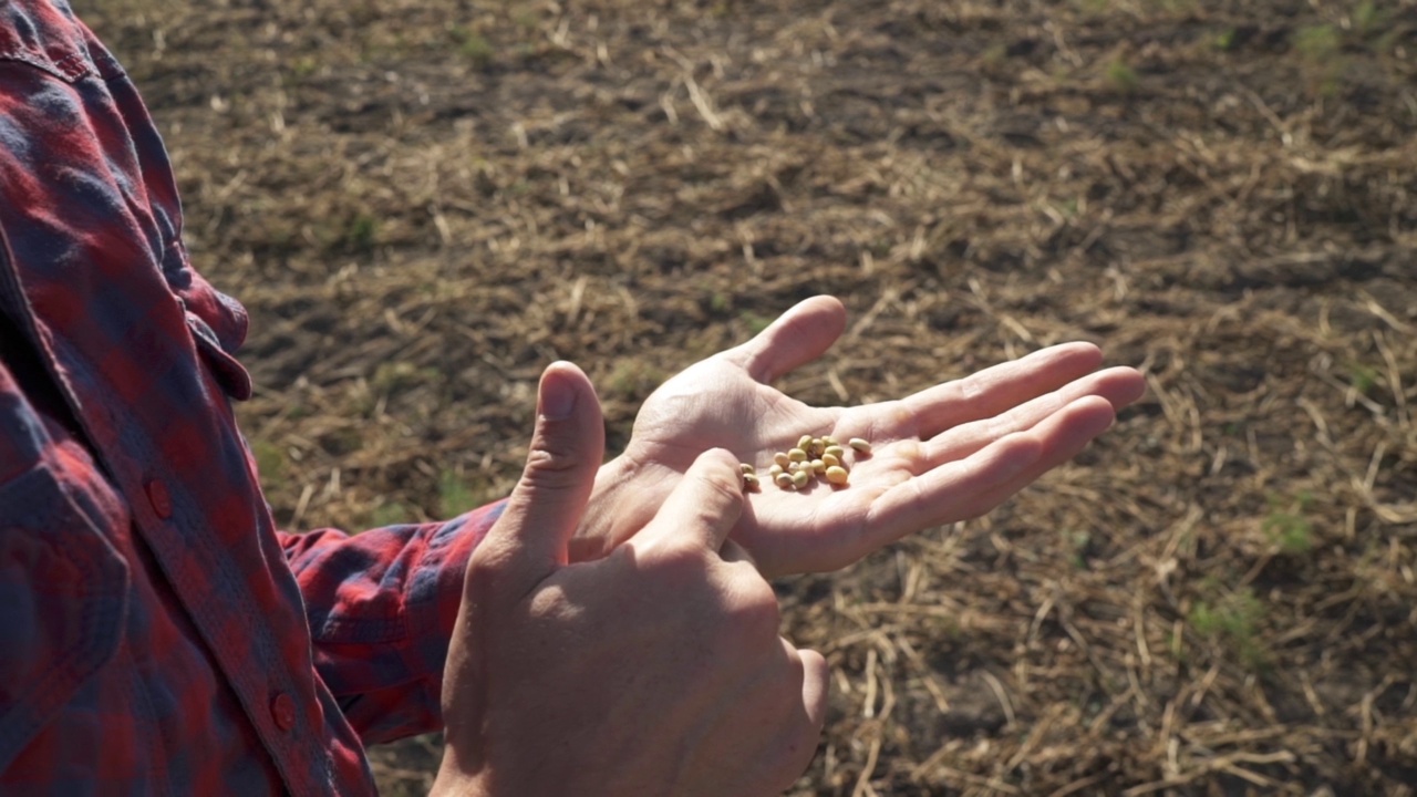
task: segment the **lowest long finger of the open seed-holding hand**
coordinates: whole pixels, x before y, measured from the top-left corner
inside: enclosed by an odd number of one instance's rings
[[[874,550],[921,529],[978,518],[1071,459],[1115,418],[1102,397],[1087,396],[1037,427],[993,441],[887,489],[871,505],[862,550]]]

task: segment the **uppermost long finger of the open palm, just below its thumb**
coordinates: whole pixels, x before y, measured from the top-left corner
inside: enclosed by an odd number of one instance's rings
[[[1091,343],[1063,343],[907,396],[921,440],[989,418],[1087,374],[1102,363]]]

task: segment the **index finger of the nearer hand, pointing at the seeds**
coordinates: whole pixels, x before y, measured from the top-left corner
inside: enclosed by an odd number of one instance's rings
[[[743,471],[727,450],[704,451],[689,467],[655,519],[628,545],[701,545],[717,553],[743,513]]]

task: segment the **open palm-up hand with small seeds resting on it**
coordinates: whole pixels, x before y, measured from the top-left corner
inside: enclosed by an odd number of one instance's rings
[[[1132,369],[1097,372],[1101,352],[1090,343],[862,407],[812,407],[772,387],[826,352],[845,325],[840,302],[808,299],[656,390],[625,454],[602,468],[575,556],[604,556],[629,539],[700,451],[724,447],[764,475],[733,532],[758,567],[771,576],[845,567],[905,535],[993,509],[1071,459],[1145,390]],[[856,458],[847,488],[768,484],[771,454],[802,434],[862,437],[874,451]]]

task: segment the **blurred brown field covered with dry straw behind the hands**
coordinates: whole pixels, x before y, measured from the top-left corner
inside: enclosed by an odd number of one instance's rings
[[[1417,793],[1413,0],[75,6],[251,309],[283,526],[503,495],[554,359],[623,445],[819,292],[815,403],[1093,340],[1151,390],[1073,465],[781,581],[792,794]]]

